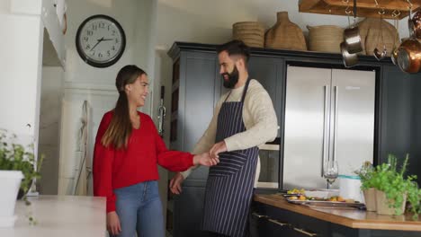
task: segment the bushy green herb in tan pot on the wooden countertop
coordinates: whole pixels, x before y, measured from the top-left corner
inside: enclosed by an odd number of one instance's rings
[[[389,154],[388,162],[381,163],[369,170],[368,175],[363,176],[362,189],[375,189],[377,214],[402,215],[408,200],[411,206],[410,211],[414,214],[413,218],[418,218],[421,190],[414,181],[417,179],[415,175],[405,176],[408,159],[407,154],[399,170],[398,159],[393,154]]]

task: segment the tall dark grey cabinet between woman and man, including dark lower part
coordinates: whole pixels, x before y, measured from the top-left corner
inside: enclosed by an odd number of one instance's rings
[[[170,148],[192,152],[208,127],[220,96],[219,64],[214,52],[179,51],[173,67]],[[200,167],[175,196],[173,236],[199,236],[204,187],[209,169]]]

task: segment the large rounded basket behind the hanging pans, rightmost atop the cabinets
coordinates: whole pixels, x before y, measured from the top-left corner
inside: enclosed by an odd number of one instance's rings
[[[387,56],[390,56],[390,52],[394,46],[399,47],[399,33],[389,22],[378,18],[366,18],[358,23],[358,28],[360,29],[363,54],[365,55],[372,55],[374,48],[383,49],[381,32],[384,45],[386,46]]]

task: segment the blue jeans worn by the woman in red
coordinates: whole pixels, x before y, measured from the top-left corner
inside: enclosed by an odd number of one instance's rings
[[[120,218],[119,237],[165,237],[164,216],[157,180],[114,189]]]

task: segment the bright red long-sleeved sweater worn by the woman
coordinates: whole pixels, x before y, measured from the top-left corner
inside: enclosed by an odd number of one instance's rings
[[[158,180],[157,164],[170,171],[185,171],[193,166],[193,154],[168,151],[152,119],[140,115],[139,129],[132,129],[127,149],[104,147],[101,138],[110,125],[112,111],[103,115],[94,147],[94,196],[107,198],[107,213],[115,211],[113,189],[147,180]]]

